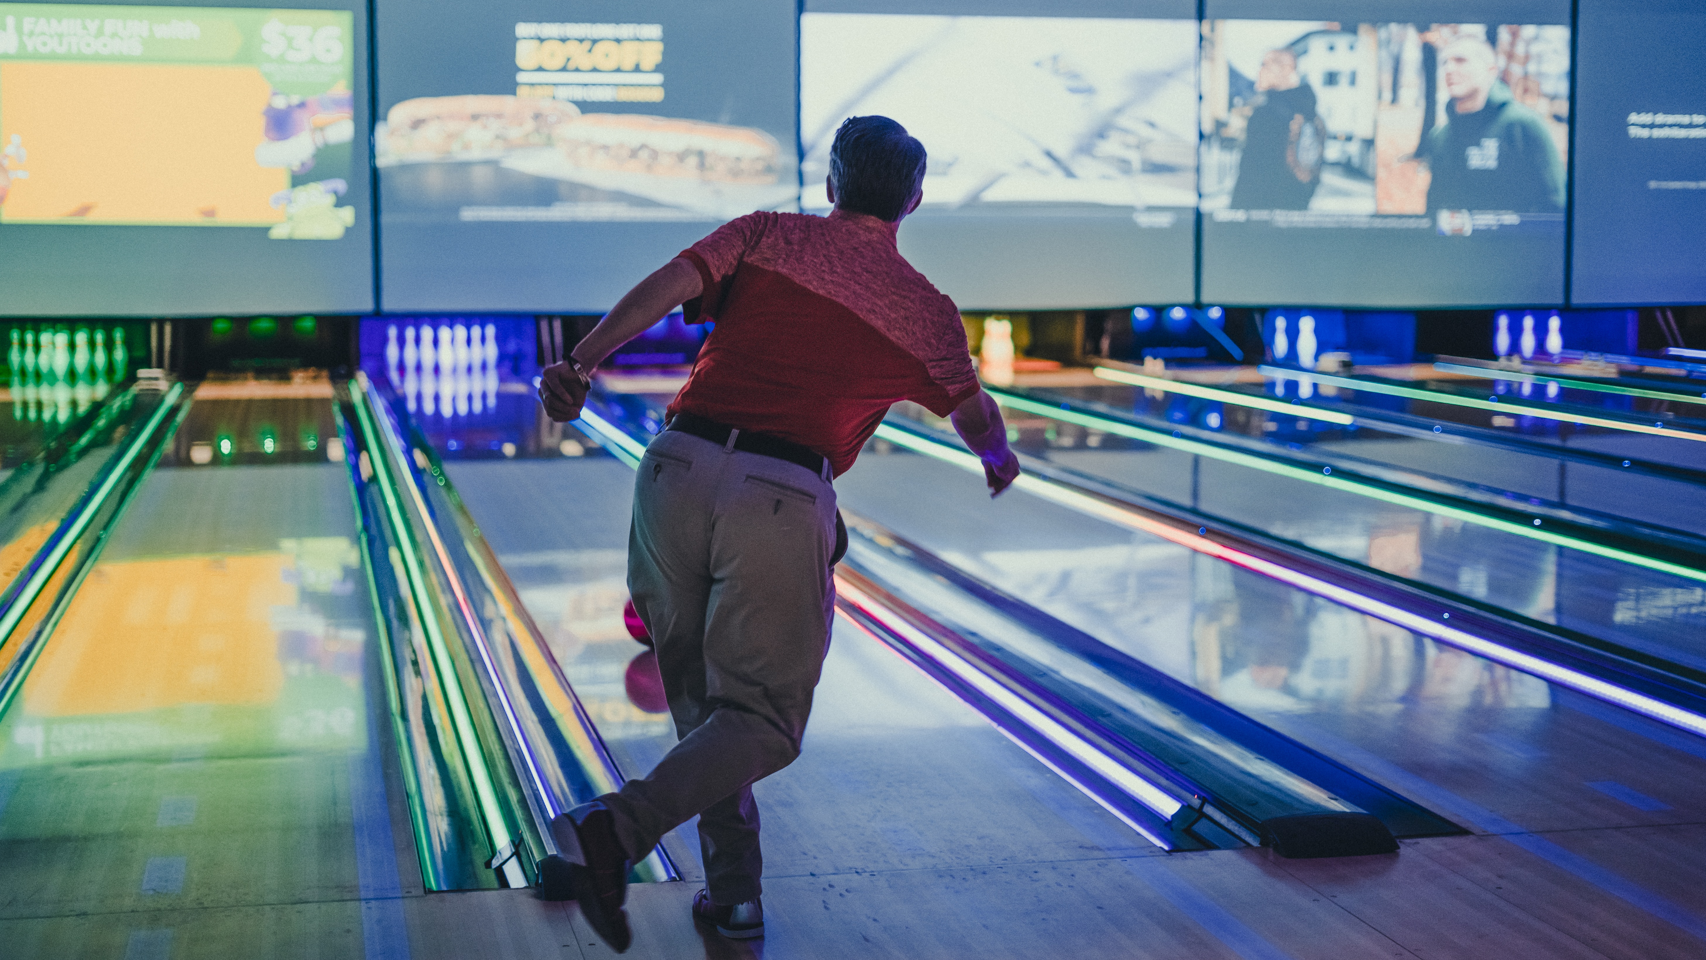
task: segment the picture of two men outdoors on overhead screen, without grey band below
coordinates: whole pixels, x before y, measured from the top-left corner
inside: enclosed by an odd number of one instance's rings
[[[1564,26],[1210,20],[1203,210],[1443,235],[1561,222],[1568,97]]]

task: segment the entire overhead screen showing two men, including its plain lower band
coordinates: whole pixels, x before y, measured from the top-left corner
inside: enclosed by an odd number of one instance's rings
[[[1201,298],[1561,304],[1568,0],[1208,0]]]

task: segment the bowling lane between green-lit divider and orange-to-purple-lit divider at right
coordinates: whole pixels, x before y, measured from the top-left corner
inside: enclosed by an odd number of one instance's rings
[[[1558,546],[1523,532],[1476,523],[1448,510],[1423,510],[1382,496],[1378,489],[1368,493],[1367,486],[1355,483],[1252,467],[1213,452],[1250,448],[1237,435],[1249,426],[1237,408],[1225,408],[1227,419],[1215,421],[1216,428],[1225,426],[1225,437],[1204,428],[1204,418],[1213,409],[1192,411],[1194,421],[1175,425],[1179,435],[1233,445],[1210,447],[1211,452],[1204,454],[1029,411],[1007,413],[1022,454],[1094,481],[1242,523],[1667,663],[1706,668],[1706,583],[1701,576],[1604,556],[1593,552],[1592,542],[1580,549]],[[947,421],[909,404],[897,408],[896,414],[943,435],[949,431]],[[1242,414],[1256,414],[1256,426],[1268,416],[1262,411]],[[1687,513],[1680,503],[1672,498],[1651,508]]]

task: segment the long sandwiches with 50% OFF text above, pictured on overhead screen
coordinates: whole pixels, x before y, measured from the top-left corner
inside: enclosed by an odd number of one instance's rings
[[[752,126],[667,116],[660,24],[515,34],[514,94],[415,97],[386,113],[377,164],[406,176],[391,206],[462,222],[722,222],[793,206],[792,147]]]

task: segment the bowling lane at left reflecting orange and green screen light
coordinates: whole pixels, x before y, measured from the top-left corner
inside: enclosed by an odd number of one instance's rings
[[[0,716],[22,953],[212,955],[258,916],[246,955],[401,933],[421,882],[334,437],[329,396],[198,401],[113,527]]]

